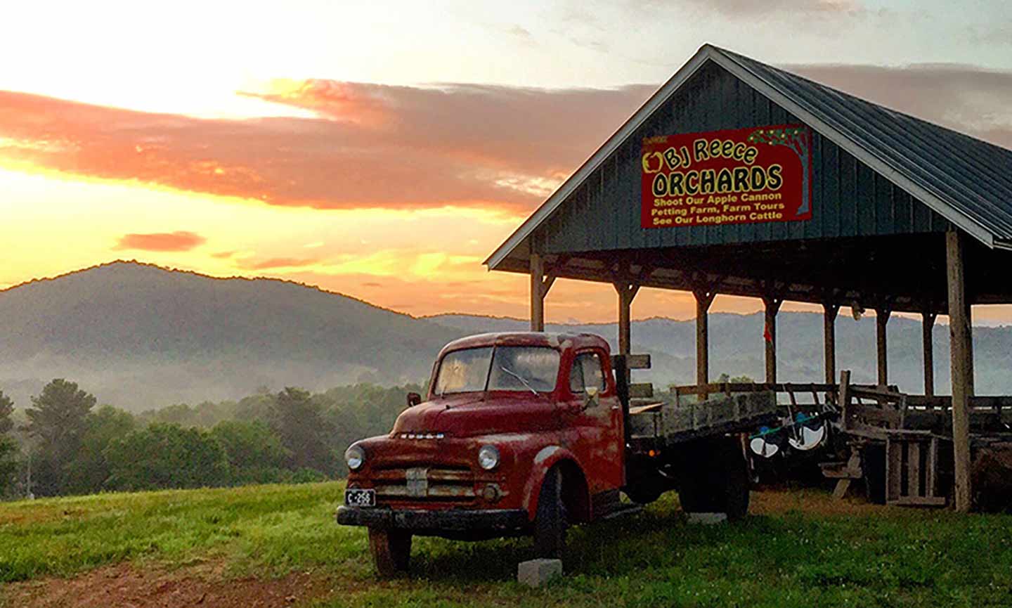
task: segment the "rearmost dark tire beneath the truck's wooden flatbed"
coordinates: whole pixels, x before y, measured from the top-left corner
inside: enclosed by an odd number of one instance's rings
[[[686,513],[726,513],[737,521],[749,512],[749,471],[737,441],[700,445],[709,466],[691,466],[681,474],[678,498]]]

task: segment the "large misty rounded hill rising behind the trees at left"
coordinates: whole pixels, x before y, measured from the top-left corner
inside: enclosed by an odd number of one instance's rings
[[[28,405],[53,377],[144,410],[359,379],[427,378],[453,330],[272,279],[114,262],[0,291],[0,389]]]

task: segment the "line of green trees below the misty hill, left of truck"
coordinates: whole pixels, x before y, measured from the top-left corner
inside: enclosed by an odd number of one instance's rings
[[[58,378],[15,411],[0,390],[0,497],[299,483],[343,476],[344,449],[387,433],[417,384],[311,394],[266,388],[238,401],[141,414],[97,406]]]

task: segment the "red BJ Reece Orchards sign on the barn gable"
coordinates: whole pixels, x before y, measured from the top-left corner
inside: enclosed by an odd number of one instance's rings
[[[811,143],[804,124],[645,139],[642,226],[811,220]]]

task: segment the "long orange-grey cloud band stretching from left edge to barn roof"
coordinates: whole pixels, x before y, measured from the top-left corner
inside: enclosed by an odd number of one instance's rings
[[[306,81],[248,95],[311,108],[320,117],[248,120],[0,92],[0,166],[285,206],[520,213],[538,204],[650,89]]]

